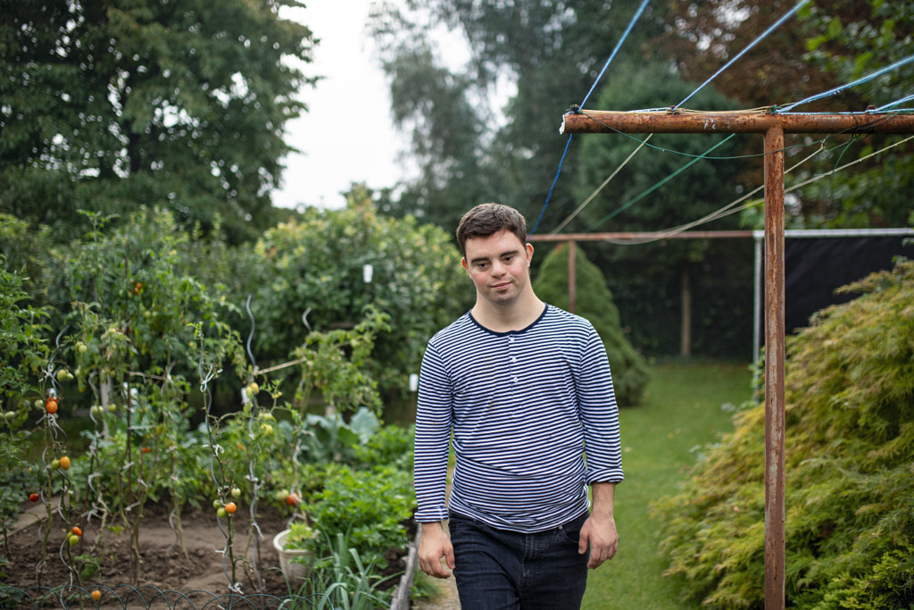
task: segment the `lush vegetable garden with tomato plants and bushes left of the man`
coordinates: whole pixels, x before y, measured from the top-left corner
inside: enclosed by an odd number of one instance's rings
[[[447,236],[355,200],[238,250],[161,210],[92,220],[48,251],[18,241],[31,228],[16,219],[3,235],[0,578],[16,587],[3,603],[143,584],[146,522],[166,516],[177,561],[183,520],[201,515],[222,539],[210,594],[383,602],[415,502],[410,430],[384,423],[384,405],[408,401],[423,333],[451,315]],[[31,565],[7,535],[24,508],[40,517]],[[260,519],[314,532],[298,542],[308,579],[277,583]],[[102,582],[118,557],[128,582]]]

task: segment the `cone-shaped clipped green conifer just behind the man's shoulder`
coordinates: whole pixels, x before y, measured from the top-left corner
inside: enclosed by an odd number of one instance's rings
[[[577,279],[575,313],[590,320],[610,360],[616,401],[633,405],[641,401],[649,375],[647,364],[622,332],[619,309],[612,300],[606,278],[580,248],[576,251]],[[568,245],[550,251],[540,266],[534,283],[537,296],[551,305],[569,309]]]

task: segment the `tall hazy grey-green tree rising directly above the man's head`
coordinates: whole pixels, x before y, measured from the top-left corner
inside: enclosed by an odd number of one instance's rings
[[[406,205],[437,214],[436,220],[446,214],[444,226],[449,229],[469,204],[484,200],[509,203],[527,219],[535,219],[547,199],[564,142],[558,134],[559,117],[572,102],[582,101],[630,14],[619,18],[618,11],[608,10],[601,0],[413,0],[406,6],[409,10],[388,3],[375,20],[392,79],[395,115],[412,119],[399,121],[420,134],[419,142],[428,141],[427,134],[450,129],[452,142],[460,144],[433,146],[420,155],[428,171],[411,185],[419,196]],[[462,33],[468,43],[472,57],[461,70],[443,68],[433,52],[430,30],[441,24]],[[660,26],[650,12],[639,25],[623,55],[649,53],[640,43],[659,33]],[[412,70],[400,69],[410,65]],[[421,87],[415,85],[419,79]],[[505,83],[515,86],[515,93],[505,108],[493,108],[496,85]],[[448,125],[456,116],[466,120]],[[569,154],[573,165],[577,150]],[[442,172],[442,167],[452,171]],[[468,192],[472,201],[467,200]],[[425,197],[426,193],[437,197]],[[567,181],[559,182],[552,201],[556,215],[572,209]]]

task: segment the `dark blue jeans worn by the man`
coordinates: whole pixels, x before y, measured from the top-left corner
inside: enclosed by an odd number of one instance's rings
[[[579,608],[590,552],[579,554],[584,513],[552,530],[497,530],[451,513],[454,578],[464,610]]]

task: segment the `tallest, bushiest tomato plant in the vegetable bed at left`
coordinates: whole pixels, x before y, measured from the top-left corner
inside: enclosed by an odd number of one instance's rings
[[[231,305],[182,267],[188,236],[169,213],[143,209],[113,228],[90,219],[90,234],[57,254],[58,289],[72,303],[61,359],[90,390],[90,513],[131,532],[136,581],[143,506],[165,491],[175,508],[187,501],[173,452],[192,413],[191,384],[218,376],[240,342],[222,319]]]

